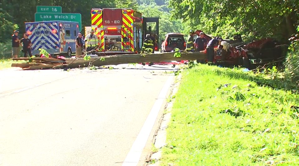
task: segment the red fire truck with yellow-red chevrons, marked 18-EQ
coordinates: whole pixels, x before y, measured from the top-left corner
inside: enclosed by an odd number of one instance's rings
[[[156,23],[155,30],[148,26],[150,22]],[[146,34],[159,38],[159,18],[145,18],[133,9],[92,9],[90,28],[99,38],[98,52],[105,55],[140,53]],[[86,27],[85,32],[90,28]],[[158,50],[159,40],[156,41]]]

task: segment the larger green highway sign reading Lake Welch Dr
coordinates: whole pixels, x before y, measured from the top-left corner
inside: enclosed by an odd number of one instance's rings
[[[35,22],[41,21],[72,21],[79,23],[81,31],[81,14],[80,13],[35,13]]]

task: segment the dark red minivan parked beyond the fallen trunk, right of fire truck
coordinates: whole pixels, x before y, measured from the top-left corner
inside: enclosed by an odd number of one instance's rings
[[[186,49],[184,34],[169,33],[165,35],[160,52],[171,52],[174,48],[179,48],[180,50]]]

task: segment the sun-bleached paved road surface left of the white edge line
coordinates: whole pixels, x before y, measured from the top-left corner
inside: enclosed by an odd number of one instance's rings
[[[147,68],[0,72],[0,165],[122,165],[169,77]]]

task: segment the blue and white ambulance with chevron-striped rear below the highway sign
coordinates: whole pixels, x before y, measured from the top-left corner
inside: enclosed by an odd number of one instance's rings
[[[39,49],[45,49],[51,55],[71,56],[73,52],[76,52],[75,39],[79,33],[78,22],[27,22],[25,30],[32,43],[32,55],[39,55]]]

